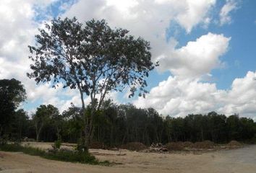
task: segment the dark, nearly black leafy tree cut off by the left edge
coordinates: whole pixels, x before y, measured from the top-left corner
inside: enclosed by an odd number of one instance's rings
[[[16,79],[0,80],[0,137],[14,119],[20,102],[26,99],[24,86]]]

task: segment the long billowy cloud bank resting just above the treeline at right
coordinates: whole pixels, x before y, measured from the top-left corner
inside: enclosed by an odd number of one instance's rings
[[[232,115],[255,117],[256,71],[249,71],[244,78],[234,79],[231,89],[221,90],[216,84],[197,79],[178,79],[169,76],[150,90],[146,99],[139,98],[137,107],[153,107],[163,115],[185,116],[207,113],[212,110]]]

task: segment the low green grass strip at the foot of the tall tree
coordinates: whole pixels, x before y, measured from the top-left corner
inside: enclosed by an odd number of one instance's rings
[[[88,152],[58,150],[58,151],[44,151],[40,148],[33,148],[30,146],[20,146],[20,144],[5,144],[0,146],[0,151],[9,152],[22,152],[31,156],[41,156],[45,159],[80,162],[82,164],[100,164],[108,166],[109,161],[98,161],[95,156],[90,155]]]

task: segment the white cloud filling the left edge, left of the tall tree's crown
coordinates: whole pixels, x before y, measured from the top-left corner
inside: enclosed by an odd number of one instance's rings
[[[3,0],[0,2],[0,79],[22,81],[27,91],[27,102],[54,102],[61,105],[59,95],[65,94],[62,89],[52,89],[50,84],[37,86],[35,81],[28,79],[26,73],[30,71],[29,50],[27,45],[34,43],[34,35],[40,23],[34,21],[40,10],[56,0]],[[43,11],[41,11],[43,12]]]

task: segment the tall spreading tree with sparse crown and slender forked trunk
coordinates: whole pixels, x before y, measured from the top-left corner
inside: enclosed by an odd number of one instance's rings
[[[77,19],[53,19],[35,35],[36,45],[30,46],[32,73],[37,83],[59,83],[78,89],[82,102],[85,149],[93,134],[93,118],[106,94],[123,91],[130,97],[137,90],[144,95],[145,77],[153,70],[150,43],[128,35],[128,30],[111,29],[104,20],[94,19],[82,25]],[[84,97],[90,97],[90,113],[86,113]]]

